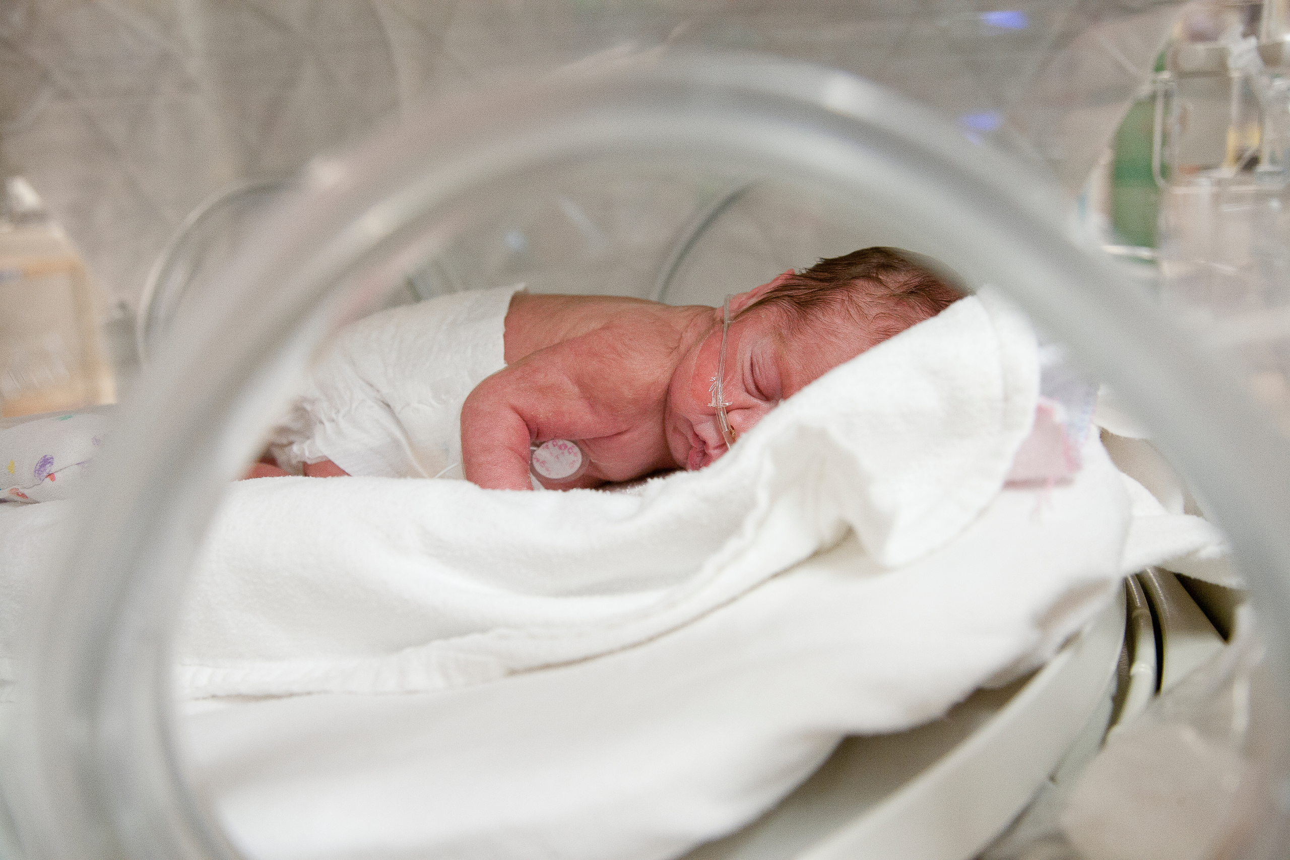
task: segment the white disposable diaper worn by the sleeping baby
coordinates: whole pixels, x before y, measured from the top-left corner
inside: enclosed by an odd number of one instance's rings
[[[461,478],[462,404],[506,366],[506,312],[522,289],[453,293],[342,329],[272,431],[279,465]]]

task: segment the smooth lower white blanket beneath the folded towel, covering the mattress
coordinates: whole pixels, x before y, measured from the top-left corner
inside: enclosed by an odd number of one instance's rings
[[[886,569],[849,535],[596,659],[436,692],[192,703],[194,772],[259,860],[676,856],[842,735],[931,719],[1102,606],[1122,551],[1143,553],[1118,473],[1095,442],[1084,454],[1073,484],[1004,490],[917,561]]]

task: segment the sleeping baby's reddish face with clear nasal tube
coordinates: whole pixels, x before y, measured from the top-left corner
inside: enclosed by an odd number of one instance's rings
[[[739,299],[755,297],[759,290],[731,299],[731,313],[751,303]],[[779,312],[765,307],[753,308],[730,324],[722,393],[730,404],[726,415],[737,436],[748,432],[780,400],[860,353],[859,346],[811,337],[811,326],[788,337],[780,334],[783,330]],[[681,357],[667,392],[663,419],[667,445],[676,462],[688,469],[700,469],[726,453],[712,405],[712,380],[720,357],[721,308],[715,308],[711,330]]]

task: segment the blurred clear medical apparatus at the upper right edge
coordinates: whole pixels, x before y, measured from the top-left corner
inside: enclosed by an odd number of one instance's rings
[[[1262,12],[1262,15],[1260,15]],[[1290,433],[1286,4],[1195,4],[1157,76],[1160,289]]]

